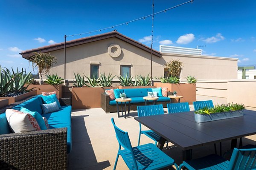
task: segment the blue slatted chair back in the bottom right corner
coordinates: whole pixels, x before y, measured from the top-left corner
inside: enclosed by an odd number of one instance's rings
[[[256,168],[256,148],[234,148],[228,170],[253,170]]]

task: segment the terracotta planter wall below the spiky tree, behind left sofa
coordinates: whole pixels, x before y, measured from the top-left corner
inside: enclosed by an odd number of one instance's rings
[[[42,94],[42,92],[52,92],[56,91],[59,98],[62,98],[62,85],[29,85],[29,89],[35,88],[37,90],[37,95]]]

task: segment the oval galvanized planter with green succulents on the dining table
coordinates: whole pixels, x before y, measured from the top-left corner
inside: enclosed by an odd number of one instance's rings
[[[244,116],[244,105],[228,103],[214,108],[201,108],[194,112],[195,122],[210,122]]]

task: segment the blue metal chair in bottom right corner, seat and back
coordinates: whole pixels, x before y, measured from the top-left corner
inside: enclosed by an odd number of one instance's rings
[[[179,170],[253,170],[256,168],[256,148],[234,148],[230,161],[212,154],[203,158],[183,161]]]

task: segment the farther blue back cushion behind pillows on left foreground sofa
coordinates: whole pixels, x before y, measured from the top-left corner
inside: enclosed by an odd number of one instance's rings
[[[32,99],[27,100],[26,102],[23,102],[15,107],[13,109],[20,111],[20,108],[26,108],[29,109],[29,111],[36,111],[40,114],[43,113],[41,104],[43,103],[41,96],[35,96]]]

